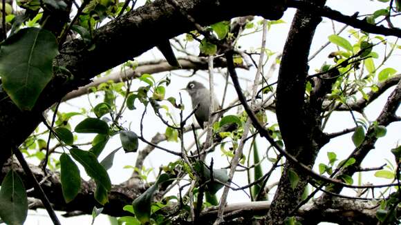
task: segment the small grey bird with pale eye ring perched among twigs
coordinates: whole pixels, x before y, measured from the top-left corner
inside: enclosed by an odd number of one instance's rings
[[[209,121],[209,90],[198,81],[189,81],[187,87],[183,88],[183,90],[186,90],[191,97],[192,108],[195,108],[199,104],[199,108],[195,112],[195,118],[199,126],[204,128],[205,122]],[[220,106],[218,105],[216,97],[214,97],[214,110],[218,110],[218,108],[220,108]],[[213,117],[213,121],[216,121],[218,115],[214,115]]]

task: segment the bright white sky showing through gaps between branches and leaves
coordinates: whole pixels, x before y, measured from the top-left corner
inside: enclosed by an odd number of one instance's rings
[[[137,5],[141,6],[143,4],[143,1],[138,1]],[[372,1],[364,0],[364,1],[345,1],[345,0],[331,0],[328,1],[328,6],[332,7],[333,9],[340,10],[344,14],[353,14],[355,11],[359,11],[360,14],[366,14],[368,12],[373,12],[374,10],[377,9],[377,6],[384,6],[383,3],[375,3],[373,4]],[[287,10],[286,14],[284,14],[284,17],[282,18],[286,23],[273,26],[270,32],[268,32],[268,43],[266,48],[272,50],[273,52],[281,52],[283,48],[283,44],[286,41],[286,35],[288,33],[288,29],[290,27],[292,15],[294,14],[295,10]],[[261,19],[261,18],[258,18]],[[342,24],[335,23],[335,30],[339,30],[342,28]],[[399,24],[398,24],[399,26]],[[348,28],[347,28],[348,29]],[[327,36],[333,34],[333,27],[331,22],[328,19],[324,19],[324,22],[321,23],[318,27],[318,30],[315,35],[315,39],[313,40],[313,47],[312,50],[310,51],[311,53],[315,52],[318,48],[320,48],[321,45],[326,43],[328,41]],[[344,31],[342,34],[342,37],[348,38],[348,32]],[[351,39],[352,40],[352,39]],[[392,38],[389,38],[389,40],[394,40]],[[247,37],[241,39],[241,46],[243,46],[242,49],[258,49],[261,44],[261,33],[257,35],[248,35]],[[379,47],[380,48],[380,47]],[[327,59],[327,55],[335,51],[335,46],[329,46],[321,52],[315,59],[310,61],[310,73],[313,73],[315,69],[320,68],[321,64],[324,61],[329,61]],[[380,53],[380,52],[379,52]],[[380,54],[381,55],[381,54]],[[156,58],[159,58],[160,52],[156,50],[156,48],[153,48],[152,50],[144,53],[141,57],[138,57],[140,60],[151,60]],[[275,57],[275,55],[274,55]],[[272,60],[274,60],[274,57]],[[399,63],[397,64],[397,61],[400,61],[400,55],[394,55],[393,56],[393,63],[390,63],[389,66],[392,66],[398,71],[401,71],[401,67],[399,66]],[[265,70],[267,71],[270,66],[270,63],[267,64]],[[277,68],[278,69],[278,68]],[[252,68],[249,71],[246,70],[238,70],[239,75],[241,77],[249,77],[249,79],[253,79],[255,70]],[[277,79],[277,72],[275,73],[275,77],[272,78],[272,81]],[[166,92],[166,97],[176,97],[179,99],[178,92],[180,92],[180,88],[184,88],[187,84],[188,81],[192,79],[196,79],[198,81],[203,82],[203,84],[207,84],[207,73],[206,72],[198,72],[198,74],[201,74],[201,77],[191,77],[191,78],[180,78],[178,76],[175,76],[175,74],[179,75],[184,75],[184,76],[189,76],[191,75],[192,72],[189,71],[181,71],[181,72],[172,72],[171,76],[171,84],[167,88]],[[156,79],[160,79],[163,75],[154,75]],[[133,82],[133,87],[138,87],[139,82],[134,81]],[[142,84],[143,85],[143,84]],[[243,82],[242,87],[246,88],[250,86],[250,83],[245,83]],[[215,76],[215,91],[216,95],[219,100],[221,100],[221,96],[223,93],[223,87],[224,87],[224,79],[220,75]],[[227,101],[226,103],[232,101],[233,99],[236,99],[236,93],[234,92],[234,88],[232,86],[229,87],[229,92],[227,95]],[[389,93],[393,90],[386,91],[385,95],[380,97],[380,99],[377,99],[374,104],[371,104],[366,109],[366,115],[369,117],[369,120],[373,121],[377,115],[380,113],[382,106],[384,106],[384,103],[386,101],[386,97],[389,95]],[[187,115],[190,112],[191,109],[191,104],[189,101],[189,96],[187,93],[181,91],[183,94],[183,100],[184,104],[186,106],[185,108],[185,115]],[[99,99],[95,99],[93,96],[90,97],[91,102],[93,106],[97,104],[98,102],[102,101],[102,97]],[[138,103],[136,106],[140,106]],[[78,99],[73,99],[72,101],[69,101],[68,104],[62,104],[60,106],[60,111],[66,112],[68,110],[75,110],[79,111],[80,107],[88,107],[88,97],[80,97]],[[140,120],[140,115],[142,114],[142,106],[138,107],[137,110],[134,111],[129,111],[127,110],[123,119],[121,121],[127,121],[126,124],[131,124],[131,130],[135,132],[139,132],[139,120]],[[162,125],[160,121],[153,115],[152,113],[153,110],[148,110],[148,115],[145,117],[144,121],[144,134],[147,139],[151,139],[153,135],[156,132],[164,133],[165,132],[165,126]],[[235,112],[233,112],[235,113]],[[361,118],[361,115],[355,114],[357,118]],[[401,115],[401,110],[398,110],[398,115]],[[176,111],[176,118],[178,118],[178,111]],[[75,125],[84,119],[84,117],[75,117],[75,119],[72,122],[72,126],[75,127]],[[270,124],[274,124],[276,122],[276,119],[274,116],[269,113],[268,114],[268,121]],[[349,113],[335,113],[330,121],[328,122],[328,125],[326,126],[325,132],[331,133],[331,132],[337,132],[340,130],[344,130],[344,128],[353,128],[355,124],[353,123],[353,120],[351,119],[351,115]],[[391,148],[394,148],[397,146],[398,142],[400,142],[400,131],[401,131],[401,123],[393,123],[391,126],[387,128],[387,135],[385,137],[382,137],[377,141],[377,144],[375,146],[375,149],[371,151],[371,153],[366,157],[364,160],[362,166],[366,167],[373,167],[373,166],[381,166],[382,164],[385,164],[384,159],[390,159],[391,162],[393,163],[393,156],[390,153]],[[319,153],[319,156],[317,157],[317,163],[315,165],[318,165],[319,162],[324,162],[327,163],[327,155],[326,153],[328,151],[333,151],[337,154],[337,158],[339,159],[344,159],[345,157],[348,156],[349,153],[353,150],[354,146],[351,141],[351,135],[343,135],[342,137],[339,137],[333,141],[330,141],[329,144],[326,144],[324,148],[321,150]],[[186,135],[187,138],[185,139],[185,146],[188,146],[190,142],[192,142],[192,135]],[[89,139],[92,139],[94,135],[88,135]],[[191,141],[188,141],[190,139]],[[161,146],[166,146],[169,149],[173,150],[178,150],[179,145],[178,143],[171,143],[171,142],[166,142],[160,144]],[[263,148],[265,146],[268,146],[267,141],[261,140],[258,142],[259,145],[259,153],[264,153]],[[104,149],[102,155],[100,156],[100,159],[105,157],[107,154],[109,154],[112,150],[115,148],[118,148],[120,146],[120,140],[118,138],[118,135],[113,137],[107,144],[106,148]],[[144,148],[146,146],[143,143],[140,143],[140,149]],[[245,152],[248,152],[249,146],[245,146],[244,150]],[[219,160],[217,161],[216,159],[223,159],[221,157],[221,152],[218,148],[207,157],[207,160],[210,160],[211,157],[214,157],[214,167],[218,168],[219,166],[227,166],[227,161],[225,160]],[[262,156],[261,156],[262,157]],[[175,160],[176,157],[173,155],[169,155],[168,153],[162,152],[161,150],[153,150],[153,153],[149,155],[147,160],[144,163],[144,166],[147,168],[150,167],[155,167],[156,169],[158,168],[159,165],[166,165],[169,162]],[[129,153],[125,154],[122,150],[120,150],[116,155],[114,159],[114,164],[113,167],[109,170],[109,175],[111,177],[111,181],[113,184],[119,184],[120,182],[126,181],[132,173],[132,170],[128,169],[123,169],[124,166],[126,165],[133,165],[136,162],[136,153]],[[271,163],[265,162],[263,164],[263,172],[267,172],[268,169],[270,169]],[[317,170],[317,166],[315,166],[315,170]],[[84,170],[81,169],[81,172]],[[277,169],[272,177],[270,178],[270,184],[272,182],[275,182],[279,179],[279,173],[281,172],[280,169]],[[375,184],[381,183],[381,184],[386,184],[391,182],[390,180],[386,179],[380,179],[377,177],[373,176],[374,172],[369,172],[369,173],[364,173],[362,177],[363,182],[375,182]],[[149,180],[152,181],[154,180],[154,174],[157,174],[157,171],[154,171],[154,173],[151,173],[149,176]],[[234,183],[238,184],[239,186],[243,186],[247,184],[247,179],[245,177],[245,173],[239,173],[234,177]],[[354,176],[354,182],[357,182],[357,177]],[[223,189],[222,189],[223,190]],[[248,190],[246,190],[248,192]],[[221,193],[221,191],[219,191]],[[353,195],[353,190],[348,190],[345,192],[346,194]],[[272,199],[274,195],[274,190],[270,191],[269,198]],[[234,203],[234,202],[248,202],[249,197],[245,195],[242,191],[230,191],[229,194],[229,202]],[[33,217],[32,215],[35,214],[36,216]],[[73,224],[73,223],[79,223],[79,224],[90,224],[91,223],[91,217],[90,216],[81,216],[81,217],[73,217],[69,219],[65,219],[64,217],[59,217],[61,219],[62,224]],[[30,211],[28,215],[28,220],[26,224],[52,224],[50,222],[50,219],[48,219],[47,213],[44,210],[39,210],[37,212],[35,211]],[[109,224],[108,219],[106,216],[101,215],[100,217],[97,217],[95,224]]]

